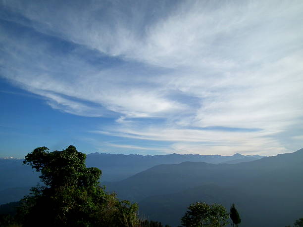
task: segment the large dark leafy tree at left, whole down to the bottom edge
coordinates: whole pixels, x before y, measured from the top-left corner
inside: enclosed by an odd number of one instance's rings
[[[85,159],[72,145],[53,152],[38,147],[25,156],[43,185],[21,201],[17,217],[23,226],[138,226],[137,204],[106,193],[101,170],[87,168]]]

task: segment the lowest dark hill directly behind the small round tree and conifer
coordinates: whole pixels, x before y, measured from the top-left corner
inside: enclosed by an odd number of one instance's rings
[[[187,207],[197,201],[222,204],[227,211],[231,204],[235,203],[243,227],[284,227],[302,217],[302,198],[253,195],[237,188],[224,188],[215,184],[189,188],[177,193],[150,196],[139,201],[138,204],[140,213],[145,217],[178,226]]]

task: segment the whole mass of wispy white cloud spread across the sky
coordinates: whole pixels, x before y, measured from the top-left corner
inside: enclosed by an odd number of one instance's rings
[[[81,45],[58,54],[2,29],[2,75],[54,109],[114,114],[118,125],[100,133],[174,141],[185,153],[289,150],[279,135],[303,118],[303,1],[2,4],[30,22],[9,20]],[[122,63],[90,63],[81,48]],[[151,127],[141,118],[163,121]],[[213,126],[260,131],[191,129]]]

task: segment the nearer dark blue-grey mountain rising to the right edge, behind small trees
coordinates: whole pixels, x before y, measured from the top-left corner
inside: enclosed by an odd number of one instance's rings
[[[303,149],[252,162],[158,165],[107,189],[140,212],[175,226],[196,201],[239,206],[242,226],[286,226],[303,214]]]

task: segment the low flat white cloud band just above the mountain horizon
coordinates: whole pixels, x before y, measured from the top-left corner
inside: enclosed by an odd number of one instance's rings
[[[273,135],[277,131],[226,131],[226,130],[194,130],[177,129],[169,127],[145,127],[137,129],[131,127],[110,127],[104,128],[104,131],[92,131],[91,133],[116,136],[129,139],[140,139],[150,141],[165,141],[169,145],[162,146],[162,149],[169,149],[176,153],[196,153],[196,154],[214,154],[232,155],[236,152],[244,154],[262,154],[272,155],[277,152],[289,152],[287,148]],[[160,149],[160,148],[158,148]]]

